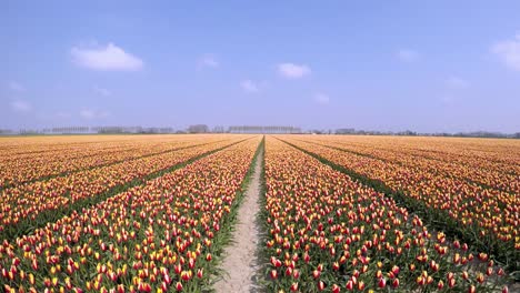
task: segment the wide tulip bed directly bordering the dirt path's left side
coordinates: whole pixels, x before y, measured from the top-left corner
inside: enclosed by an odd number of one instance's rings
[[[7,292],[200,292],[260,138],[0,245]]]

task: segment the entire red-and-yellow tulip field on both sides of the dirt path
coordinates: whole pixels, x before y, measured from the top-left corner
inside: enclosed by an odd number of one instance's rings
[[[261,291],[520,290],[520,141],[303,134],[0,138],[0,287],[210,292],[256,164]]]

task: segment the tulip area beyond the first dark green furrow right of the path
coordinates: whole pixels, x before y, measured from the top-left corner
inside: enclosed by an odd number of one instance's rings
[[[453,154],[462,151],[456,149],[457,142],[437,146],[437,152],[426,156],[413,153],[414,150],[392,149],[384,141],[380,142],[381,149],[367,149],[367,142],[343,146],[344,139],[291,140],[296,146],[350,170],[364,181],[377,181],[376,185],[397,195],[409,209],[422,211],[438,229],[457,234],[518,271],[520,148],[516,142],[506,142],[491,146],[494,151],[490,145],[474,149],[471,143],[478,141],[459,142],[469,144],[463,150],[468,154],[460,153],[453,162]],[[419,142],[423,144],[427,142]],[[487,152],[493,156],[487,158]]]

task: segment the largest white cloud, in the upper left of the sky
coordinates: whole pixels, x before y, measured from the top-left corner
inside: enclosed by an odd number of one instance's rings
[[[144,64],[141,59],[124,52],[113,43],[96,48],[73,47],[70,54],[74,63],[93,70],[137,71]]]

